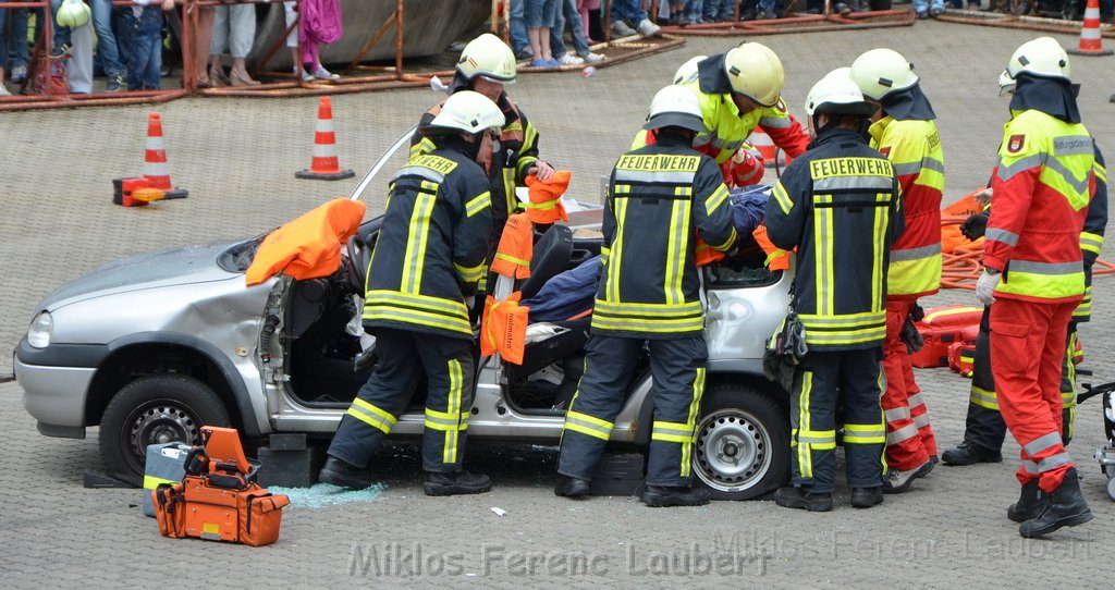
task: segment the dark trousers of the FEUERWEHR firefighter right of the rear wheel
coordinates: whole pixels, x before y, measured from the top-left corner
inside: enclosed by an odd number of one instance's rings
[[[830,493],[835,487],[837,407],[843,409],[849,485],[883,484],[882,356],[881,347],[809,351],[798,365],[789,396],[794,485],[813,493]]]

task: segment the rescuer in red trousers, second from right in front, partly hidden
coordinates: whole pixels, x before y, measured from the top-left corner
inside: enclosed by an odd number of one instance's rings
[[[921,388],[914,381],[902,328],[918,299],[941,286],[941,194],[944,153],[913,65],[892,49],[872,49],[850,71],[864,98],[880,107],[869,133],[871,147],[894,166],[902,188],[905,231],[891,248],[886,273],[886,339],[883,344],[883,416],[886,419],[886,480],[883,492],[901,493],[933,470],[937,439]]]

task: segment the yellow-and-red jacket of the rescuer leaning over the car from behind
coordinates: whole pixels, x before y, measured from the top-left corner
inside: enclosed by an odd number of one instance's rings
[[[791,157],[805,153],[809,137],[780,98],[773,107],[739,112],[731,100],[731,83],[724,72],[724,54],[701,60],[697,65],[697,76],[682,80],[681,85],[697,94],[705,126],[709,129],[708,133],[697,134],[694,148],[708,154],[717,164],[734,156],[755,127],[763,127],[775,145]]]

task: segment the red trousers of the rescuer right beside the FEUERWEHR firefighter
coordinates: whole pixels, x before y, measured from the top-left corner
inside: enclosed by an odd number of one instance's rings
[[[914,303],[915,300],[886,300],[886,339],[883,342],[886,465],[902,471],[917,468],[937,454],[929,409],[913,378],[910,349],[902,341],[902,327]]]

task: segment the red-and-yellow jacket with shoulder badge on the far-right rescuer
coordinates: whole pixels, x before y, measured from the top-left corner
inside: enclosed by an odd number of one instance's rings
[[[1079,123],[1029,109],[1004,125],[983,246],[983,263],[1002,271],[996,298],[1080,300],[1094,168],[1094,143]]]

